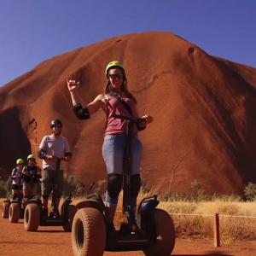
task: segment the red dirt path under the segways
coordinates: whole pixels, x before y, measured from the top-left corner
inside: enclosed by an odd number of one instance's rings
[[[0,218],[1,256],[73,256],[71,233],[63,232],[61,227],[39,227],[38,232],[26,232],[23,222],[10,224],[8,219]],[[106,252],[104,256],[143,256],[143,252]],[[212,246],[211,240],[189,241],[177,239],[172,255],[239,255],[255,256],[256,241],[237,242],[232,247]],[[159,255],[161,256],[161,255]]]

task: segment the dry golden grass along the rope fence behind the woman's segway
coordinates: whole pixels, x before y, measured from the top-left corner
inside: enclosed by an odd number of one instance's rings
[[[138,202],[145,196],[148,195],[140,194]],[[73,200],[73,204],[76,204],[79,200],[81,198]],[[3,199],[0,199],[1,207],[2,203]],[[114,221],[116,227],[119,227],[120,222],[125,221],[125,217],[121,212],[121,205],[122,195],[119,197]],[[218,213],[220,237],[223,245],[230,244],[232,241],[256,240],[256,218],[235,217],[256,217],[256,201],[161,201],[158,207],[171,214],[176,228],[176,236],[212,238],[213,215]],[[196,215],[183,215],[182,213]]]

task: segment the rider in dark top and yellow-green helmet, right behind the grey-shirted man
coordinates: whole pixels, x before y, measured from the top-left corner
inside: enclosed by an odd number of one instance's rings
[[[34,195],[38,195],[39,178],[41,177],[41,170],[37,166],[36,158],[33,154],[27,156],[27,166],[22,170],[23,174],[23,197],[27,199]]]

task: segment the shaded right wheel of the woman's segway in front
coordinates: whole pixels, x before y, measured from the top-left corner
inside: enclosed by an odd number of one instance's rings
[[[164,210],[154,210],[156,241],[152,247],[143,250],[147,256],[169,256],[175,245],[175,230],[171,216]]]

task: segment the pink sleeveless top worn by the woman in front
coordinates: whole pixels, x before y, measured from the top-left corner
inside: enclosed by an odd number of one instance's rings
[[[125,133],[128,120],[125,119],[115,119],[113,114],[120,114],[124,116],[131,116],[131,113],[126,110],[124,105],[114,96],[108,96],[108,105],[105,108],[105,113],[107,115],[106,128],[104,131],[104,136],[109,134]],[[129,104],[132,113],[136,113],[136,102],[127,96],[122,97],[122,99]],[[137,134],[137,127],[134,125],[134,133]]]

